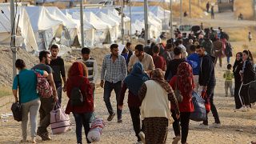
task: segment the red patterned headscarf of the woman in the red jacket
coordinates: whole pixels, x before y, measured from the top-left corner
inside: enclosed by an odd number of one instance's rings
[[[187,62],[182,62],[178,66],[178,87],[182,87],[184,93],[190,94],[194,86],[192,67]]]

